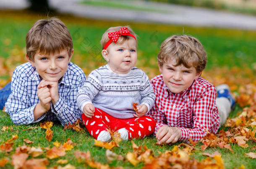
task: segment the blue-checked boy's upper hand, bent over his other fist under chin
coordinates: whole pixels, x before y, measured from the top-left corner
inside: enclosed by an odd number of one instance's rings
[[[58,82],[45,81],[44,79],[39,83],[37,88],[48,87],[50,89],[52,104],[54,105],[59,99]]]

